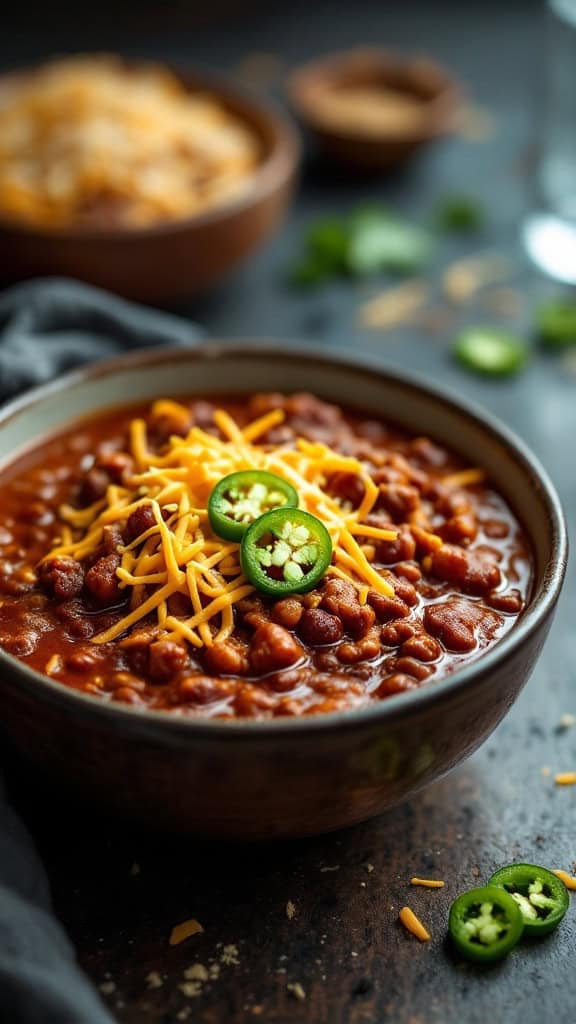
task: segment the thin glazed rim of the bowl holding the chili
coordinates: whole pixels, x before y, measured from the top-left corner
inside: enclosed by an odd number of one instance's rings
[[[254,358],[286,361],[294,355],[299,361],[317,368],[348,369],[355,374],[364,375],[371,380],[378,377],[390,384],[398,384],[404,389],[424,393],[428,398],[440,404],[447,406],[458,416],[466,419],[503,444],[508,455],[512,456],[522,469],[537,484],[538,490],[547,508],[549,518],[550,557],[544,569],[541,585],[531,596],[526,609],[515,627],[474,662],[462,669],[448,674],[434,684],[401,694],[395,694],[381,701],[374,701],[358,709],[327,712],[322,715],[286,717],[277,719],[232,719],[224,722],[217,719],[177,717],[171,712],[151,709],[134,709],[124,705],[104,703],[90,694],[72,689],[57,683],[30,668],[17,657],[8,654],[0,648],[0,668],[5,668],[10,674],[19,677],[26,690],[34,697],[40,697],[63,712],[84,713],[85,717],[100,716],[100,721],[111,726],[121,725],[136,733],[154,736],[155,739],[168,737],[206,738],[208,736],[236,737],[237,740],[274,738],[283,734],[304,733],[306,735],[324,734],[331,729],[355,729],[363,725],[385,725],[410,714],[411,709],[426,709],[430,703],[442,703],[456,693],[465,692],[466,686],[475,681],[482,684],[480,677],[505,663],[522,648],[525,640],[545,623],[559,598],[568,560],[568,531],[566,520],[558,492],[546,470],[530,447],[505,424],[467,398],[461,400],[450,388],[429,384],[423,378],[412,372],[389,370],[373,356],[367,353],[347,354],[311,346],[302,342],[283,342],[281,344],[262,339],[260,341],[212,341],[203,340],[193,347],[163,346],[149,349],[137,349],[112,358],[87,364],[73,370],[46,384],[26,391],[0,408],[0,431],[14,417],[26,414],[26,411],[54,394],[66,392],[69,388],[86,381],[94,381],[124,373],[131,369],[146,369],[165,364],[194,362],[195,360],[218,361],[227,356],[236,359]],[[100,407],[102,410],[106,406]],[[109,407],[110,408],[110,407]],[[90,415],[97,415],[97,410],[91,410]],[[61,426],[66,426],[66,418]],[[74,421],[70,421],[74,422]],[[28,442],[27,442],[28,443]],[[9,460],[8,460],[9,462]],[[4,463],[5,465],[6,463]],[[532,538],[529,537],[532,542]],[[3,682],[0,680],[0,688]]]

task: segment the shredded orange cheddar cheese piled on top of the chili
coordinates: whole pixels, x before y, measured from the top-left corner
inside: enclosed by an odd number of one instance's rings
[[[155,402],[152,412],[178,424],[189,422],[188,410],[171,399]],[[296,488],[300,507],[317,516],[330,535],[333,560],[327,572],[353,583],[361,603],[370,589],[394,595],[388,581],[367,557],[373,555],[373,544],[363,543],[367,538],[389,541],[397,536],[394,528],[364,522],[379,490],[363,463],[303,438],[276,446],[261,443],[266,432],[284,420],[282,410],[243,429],[223,410],[216,410],[213,420],[220,437],[193,426],[183,437],[171,436],[162,453],[150,449],[145,420],[132,420],[128,445],[135,467],[132,475],[122,485],[109,485],[106,497],[88,508],[60,508],[65,526],[49,558],[89,557],[106,536],[105,527],[123,526],[139,508],[150,509],[154,519],[133,541],[116,549],[121,556],[116,572],[120,588],[130,593],[130,609],[93,637],[93,643],[116,639],[150,614],[156,614],[168,638],[194,647],[209,647],[231,636],[234,606],[254,588],[242,573],[240,545],[212,532],[208,501],[222,477],[241,470],[265,470]],[[325,489],[329,476],[340,471],[362,481],[364,495],[357,509],[340,504]],[[189,600],[192,614],[174,612],[170,606],[174,595]]]

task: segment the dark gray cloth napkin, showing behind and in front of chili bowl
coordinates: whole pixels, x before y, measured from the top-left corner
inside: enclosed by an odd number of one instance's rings
[[[77,282],[17,285],[0,294],[0,400],[83,362],[200,337],[196,325]],[[1,778],[0,1024],[113,1024],[51,912],[44,870]]]

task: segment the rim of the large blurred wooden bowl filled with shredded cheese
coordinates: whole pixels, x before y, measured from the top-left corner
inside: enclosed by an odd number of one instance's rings
[[[231,216],[249,210],[255,203],[268,198],[293,176],[299,165],[302,148],[298,129],[290,112],[282,109],[270,96],[261,96],[243,82],[238,82],[233,76],[206,71],[201,66],[186,66],[170,60],[134,59],[123,57],[121,54],[119,56],[128,68],[146,67],[150,63],[160,65],[172,72],[189,90],[198,86],[212,92],[216,98],[222,99],[224,103],[240,101],[246,110],[249,109],[260,122],[265,124],[272,140],[271,151],[248,179],[249,187],[238,197],[233,197],[221,206],[208,209],[204,213],[159,220],[141,226],[123,227],[120,225],[118,227],[96,228],[69,224],[60,227],[46,227],[42,224],[20,223],[18,220],[10,220],[0,214],[0,232],[17,234],[30,240],[54,240],[67,243],[123,242],[131,239],[134,239],[135,242],[141,242],[145,239],[154,239],[167,233],[179,234],[194,228],[219,224]],[[17,77],[27,72],[35,71],[38,67],[40,65],[30,68],[14,68],[3,72],[0,75],[0,82],[12,76]],[[249,118],[243,115],[239,115],[239,117],[250,124]]]

